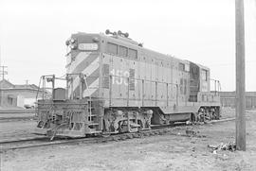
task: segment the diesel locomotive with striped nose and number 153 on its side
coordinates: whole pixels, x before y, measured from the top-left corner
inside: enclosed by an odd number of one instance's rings
[[[76,33],[66,41],[65,77],[43,76],[51,97],[37,102],[37,132],[47,136],[135,132],[153,125],[220,118],[210,69],[144,48],[128,33]],[[64,80],[65,88],[56,81]]]

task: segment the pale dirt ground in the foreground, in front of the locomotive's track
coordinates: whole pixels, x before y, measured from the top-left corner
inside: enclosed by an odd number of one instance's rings
[[[180,136],[192,128],[197,136]],[[6,170],[256,170],[256,111],[247,112],[247,151],[208,145],[234,141],[234,121],[174,128],[180,135],[155,135],[119,142],[55,145],[1,153]],[[199,131],[199,132],[198,132]]]

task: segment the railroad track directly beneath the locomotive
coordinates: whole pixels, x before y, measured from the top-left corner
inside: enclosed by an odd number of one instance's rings
[[[227,122],[234,120],[234,118],[227,118],[222,120],[212,120],[208,123],[219,123],[219,122]],[[143,130],[140,132],[133,132],[133,133],[122,133],[122,134],[115,134],[110,135],[108,137],[87,137],[87,138],[77,138],[77,139],[55,139],[54,141],[49,141],[48,137],[36,137],[24,140],[14,140],[14,141],[6,141],[0,142],[0,151],[8,151],[11,149],[20,149],[20,148],[29,148],[29,147],[38,147],[38,146],[46,146],[46,145],[71,145],[71,144],[93,144],[93,143],[106,143],[110,141],[123,141],[126,139],[133,139],[133,138],[142,138],[152,135],[179,135],[179,136],[198,136],[202,137],[202,135],[196,134],[186,134],[175,132],[175,128],[179,128],[181,126],[186,125],[185,123],[178,123],[175,125],[167,125],[167,126],[154,126],[152,129]],[[179,127],[178,127],[179,126]],[[192,126],[188,126],[192,128]]]

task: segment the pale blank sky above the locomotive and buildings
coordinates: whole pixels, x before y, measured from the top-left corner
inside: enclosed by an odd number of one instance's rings
[[[72,33],[129,32],[144,47],[210,68],[235,90],[235,0],[0,0],[1,65],[13,84],[64,76]],[[256,0],[245,0],[246,90],[256,91]]]

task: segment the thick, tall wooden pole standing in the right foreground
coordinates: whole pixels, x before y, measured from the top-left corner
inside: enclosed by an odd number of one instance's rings
[[[245,24],[244,0],[235,0],[236,43],[236,149],[246,150]]]

